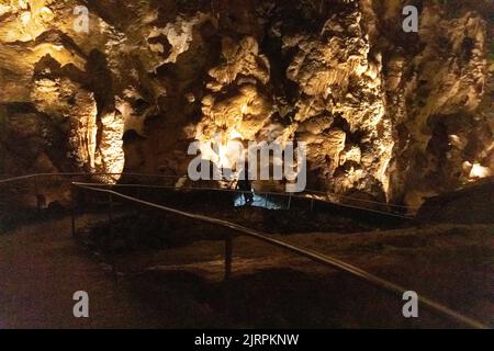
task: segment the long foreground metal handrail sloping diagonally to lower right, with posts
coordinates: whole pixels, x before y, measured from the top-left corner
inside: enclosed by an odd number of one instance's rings
[[[388,280],[384,280],[382,278],[379,278],[374,274],[371,274],[362,269],[359,269],[352,264],[346,263],[339,259],[336,259],[334,257],[327,256],[327,254],[322,254],[319,252],[315,252],[312,250],[307,250],[307,249],[303,249],[303,248],[299,248],[296,246],[293,246],[291,244],[278,240],[278,239],[273,239],[270,238],[267,234],[262,233],[262,231],[258,231],[255,229],[250,229],[244,226],[240,226],[238,224],[235,223],[231,223],[227,220],[223,220],[223,219],[218,219],[218,218],[214,218],[214,217],[210,217],[210,216],[203,216],[203,215],[197,215],[197,214],[192,214],[192,213],[188,213],[188,212],[183,212],[180,210],[176,210],[176,208],[171,208],[171,207],[167,207],[167,206],[162,206],[162,205],[157,205],[144,200],[139,200],[136,197],[132,197],[128,195],[124,195],[121,194],[119,192],[115,192],[113,190],[105,190],[105,189],[100,189],[100,188],[94,188],[94,186],[89,186],[86,185],[85,183],[72,183],[74,186],[78,186],[81,189],[86,189],[86,190],[90,190],[90,191],[94,191],[94,192],[101,192],[101,193],[106,193],[110,194],[111,196],[117,196],[121,197],[123,200],[127,200],[131,202],[135,202],[148,207],[153,207],[153,208],[157,208],[160,211],[165,211],[165,212],[169,212],[169,213],[173,213],[183,217],[188,217],[188,218],[192,218],[192,219],[197,219],[197,220],[201,220],[204,223],[210,223],[210,224],[214,224],[224,228],[228,228],[232,229],[236,233],[240,233],[245,236],[248,236],[250,238],[257,239],[259,241],[266,242],[268,245],[271,245],[273,247],[278,247],[281,249],[284,249],[287,251],[290,251],[292,253],[296,253],[301,257],[307,258],[314,262],[317,263],[322,263],[324,265],[328,265],[332,268],[336,268],[339,271],[346,272],[351,274],[352,276],[359,278],[360,280],[370,283],[374,286],[378,286],[382,290],[385,290],[388,292],[391,292],[393,294],[397,294],[398,296],[403,296],[403,294],[407,291],[406,288],[404,288],[403,286],[392,283]],[[111,197],[112,199],[112,197]],[[111,205],[112,208],[112,205]],[[72,211],[72,235],[75,235],[75,212]],[[225,245],[225,278],[228,279],[232,274],[232,263],[233,263],[233,236],[228,235],[226,238],[226,245]],[[478,328],[478,329],[486,329],[487,326],[483,325],[482,322],[467,317],[458,312],[452,310],[451,308],[437,303],[428,297],[424,297],[424,296],[418,296],[418,299],[422,304],[424,304],[425,306],[427,306],[429,309],[435,310],[444,316],[447,316],[453,320],[456,320],[457,322],[460,322],[462,325],[472,327],[472,328]]]

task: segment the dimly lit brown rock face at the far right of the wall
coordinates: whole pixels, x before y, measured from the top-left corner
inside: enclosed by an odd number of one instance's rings
[[[483,3],[492,11],[492,2]],[[493,167],[493,57],[486,36],[494,26],[475,12],[449,18],[446,10],[425,7],[415,43],[408,52],[394,49],[385,68],[386,110],[397,141],[390,196],[412,205],[423,195],[489,177]]]

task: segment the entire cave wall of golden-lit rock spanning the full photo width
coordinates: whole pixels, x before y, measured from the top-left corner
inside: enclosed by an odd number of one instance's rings
[[[418,34],[402,2],[0,0],[2,171],[182,176],[220,135],[305,141],[308,188],[381,201],[492,176],[492,2],[424,1]]]

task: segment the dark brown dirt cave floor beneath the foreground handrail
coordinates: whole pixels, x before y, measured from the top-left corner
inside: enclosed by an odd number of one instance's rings
[[[170,218],[160,227],[153,215],[123,214],[116,222],[116,282],[109,252],[98,241],[104,241],[104,215],[80,216],[78,240],[69,217],[0,234],[0,328],[464,327],[422,306],[419,318],[406,319],[400,296],[246,237],[234,241],[233,276],[225,282],[217,228]],[[159,233],[141,230],[143,244],[132,235],[139,223]],[[353,229],[271,236],[343,259],[494,326],[492,225]],[[89,294],[90,318],[72,315],[77,291]]]

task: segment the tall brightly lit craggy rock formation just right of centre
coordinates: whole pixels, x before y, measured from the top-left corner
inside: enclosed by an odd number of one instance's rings
[[[321,34],[294,46],[287,73],[301,91],[293,111],[296,132],[310,145],[318,186],[339,193],[377,186],[384,193],[394,144],[381,54],[370,52],[361,11],[348,7],[343,14],[333,14]],[[294,42],[285,39],[287,47]]]

